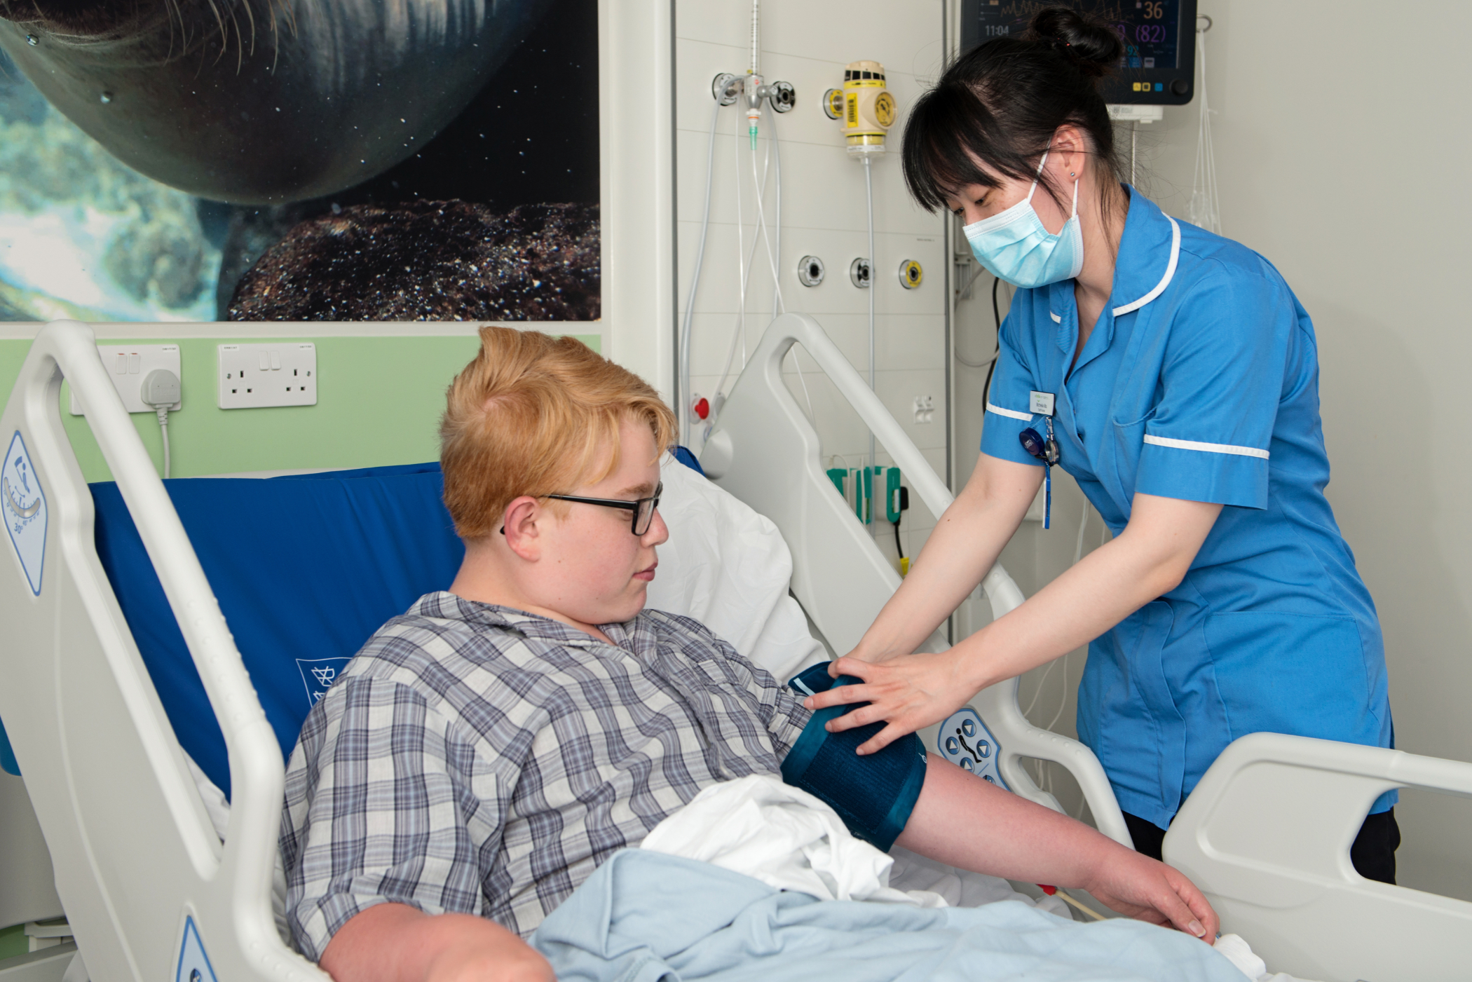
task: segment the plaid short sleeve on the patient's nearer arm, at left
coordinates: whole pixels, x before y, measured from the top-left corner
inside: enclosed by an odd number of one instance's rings
[[[495,829],[495,848],[506,802],[474,743],[420,692],[340,682],[308,717],[286,791],[286,916],[311,960],[375,904],[481,913],[471,824]]]

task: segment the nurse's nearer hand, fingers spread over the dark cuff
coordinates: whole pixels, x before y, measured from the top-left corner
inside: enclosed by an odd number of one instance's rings
[[[818,692],[804,699],[802,705],[821,710],[830,705],[868,702],[830,720],[827,723],[830,733],[889,720],[889,726],[858,746],[860,754],[874,754],[905,733],[939,723],[966,705],[980,688],[964,677],[961,661],[949,652],[916,652],[883,663],[861,661],[848,655],[830,664],[829,674],[835,679],[857,676],[864,682]]]

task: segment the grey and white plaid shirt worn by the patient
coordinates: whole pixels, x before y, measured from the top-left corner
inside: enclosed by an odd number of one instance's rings
[[[786,686],[687,617],[602,632],[430,593],[368,640],[287,767],[303,954],[386,901],[526,936],[701,789],[780,774],[808,721]]]

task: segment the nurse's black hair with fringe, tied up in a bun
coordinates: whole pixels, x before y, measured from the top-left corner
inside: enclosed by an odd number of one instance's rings
[[[910,112],[904,135],[905,184],[929,211],[945,208],[966,184],[1032,180],[1058,127],[1075,125],[1094,144],[1105,206],[1120,181],[1098,80],[1119,65],[1125,44],[1101,18],[1072,7],[1038,10],[1019,37],[979,44],[952,63]],[[1061,188],[1044,187],[1067,211]]]

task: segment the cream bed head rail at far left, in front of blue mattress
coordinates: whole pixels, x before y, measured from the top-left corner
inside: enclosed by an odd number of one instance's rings
[[[97,559],[93,499],[62,428],[63,375],[219,718],[236,789],[224,845]],[[12,448],[6,474],[24,456],[38,495],[0,504],[15,546],[0,561],[0,620],[10,630],[0,646],[0,718],[93,978],[172,979],[184,960],[188,979],[190,964],[205,960],[206,982],[322,982],[283,945],[271,916],[280,746],[90,327],[57,321],[40,331],[0,436]],[[19,530],[13,504],[31,511]]]

